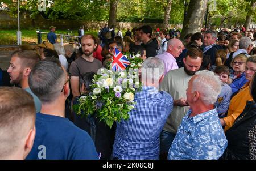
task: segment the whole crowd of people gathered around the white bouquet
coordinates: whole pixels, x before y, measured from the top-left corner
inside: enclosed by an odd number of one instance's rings
[[[47,41],[11,54],[0,159],[256,159],[256,29],[202,30],[183,41],[175,29],[143,25],[123,36],[105,24],[98,37],[81,27],[80,49],[50,29]],[[129,119],[109,128],[73,105],[90,96],[115,48],[139,53],[151,72],[140,72]]]

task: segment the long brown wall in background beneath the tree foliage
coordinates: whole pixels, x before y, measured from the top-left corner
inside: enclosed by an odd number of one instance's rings
[[[80,25],[84,25],[85,29],[97,30],[108,22],[98,21],[81,21],[81,20],[49,20],[38,15],[36,19],[31,19],[28,14],[20,15],[20,29],[48,29],[51,25],[57,29],[79,29]],[[117,22],[117,28],[126,29],[127,27],[141,27],[142,25],[150,25],[152,28],[161,27],[161,23],[128,23]],[[182,24],[170,24],[169,28],[182,28]],[[0,29],[18,29],[18,17],[11,17],[6,11],[0,11]]]

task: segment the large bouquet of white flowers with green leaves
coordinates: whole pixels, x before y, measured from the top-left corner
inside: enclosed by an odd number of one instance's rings
[[[100,69],[94,75],[92,92],[88,96],[81,96],[78,105],[73,105],[77,114],[89,116],[96,114],[100,121],[112,127],[114,121],[129,119],[128,112],[134,109],[134,94],[141,90],[139,68],[143,60],[141,55],[129,55],[130,65],[126,70],[113,72]]]

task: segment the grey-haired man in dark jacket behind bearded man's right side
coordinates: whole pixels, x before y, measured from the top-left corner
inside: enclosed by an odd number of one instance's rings
[[[209,55],[211,65],[215,63],[216,53],[218,50],[223,49],[221,45],[217,44],[216,31],[206,31],[204,34],[204,56]]]

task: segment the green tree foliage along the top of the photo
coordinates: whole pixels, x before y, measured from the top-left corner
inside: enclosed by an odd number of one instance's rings
[[[3,0],[10,14],[16,16],[18,0]],[[48,19],[72,20],[109,20],[110,3],[118,1],[117,21],[163,23],[167,5],[170,6],[169,23],[182,24],[184,18],[184,1],[182,0],[46,0],[46,11],[38,10],[38,0],[20,0],[20,11],[27,11],[31,18],[42,15]],[[199,0],[195,0],[199,1]],[[230,26],[243,24],[250,5],[255,0],[209,0],[209,24]],[[170,3],[171,2],[171,3]],[[186,1],[189,3],[189,0]],[[1,3],[0,7],[3,5]],[[256,22],[255,10],[251,12],[252,22]]]

